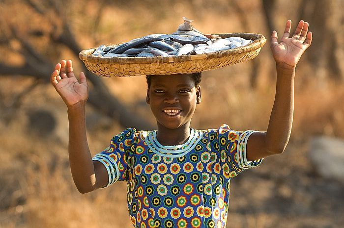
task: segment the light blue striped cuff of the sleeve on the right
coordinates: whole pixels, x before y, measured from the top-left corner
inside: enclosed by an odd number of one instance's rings
[[[249,169],[251,167],[259,166],[262,159],[255,160],[255,161],[247,161],[246,155],[246,146],[249,137],[256,131],[254,130],[246,130],[244,131],[238,140],[238,146],[236,148],[236,154],[238,156],[238,164],[241,169]]]

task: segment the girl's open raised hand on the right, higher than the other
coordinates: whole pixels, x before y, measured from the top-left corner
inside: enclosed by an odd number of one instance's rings
[[[300,21],[295,33],[289,38],[290,28],[291,20],[288,20],[280,43],[277,40],[277,32],[273,31],[270,48],[277,64],[287,64],[287,66],[295,67],[303,52],[312,43],[312,32],[307,32],[307,22]]]

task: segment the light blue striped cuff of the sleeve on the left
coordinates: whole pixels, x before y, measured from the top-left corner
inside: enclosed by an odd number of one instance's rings
[[[114,158],[112,158],[109,155],[106,155],[104,153],[97,153],[92,158],[92,160],[93,161],[99,161],[100,163],[102,163],[105,166],[106,170],[108,171],[109,182],[106,186],[104,186],[102,188],[106,188],[118,180],[120,173],[119,173],[119,169],[118,169],[118,166],[117,166]]]

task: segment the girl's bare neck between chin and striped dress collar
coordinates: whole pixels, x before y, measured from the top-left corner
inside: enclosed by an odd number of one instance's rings
[[[190,137],[190,123],[176,129],[166,128],[158,123],[157,140],[164,146],[181,145]]]

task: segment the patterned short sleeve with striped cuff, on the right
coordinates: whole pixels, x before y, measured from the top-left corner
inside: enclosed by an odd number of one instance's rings
[[[246,155],[247,141],[256,131],[235,131],[228,125],[222,125],[217,132],[219,156],[222,167],[226,167],[229,177],[235,177],[245,169],[259,166],[262,159],[248,161]]]

